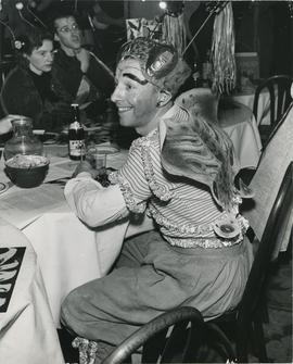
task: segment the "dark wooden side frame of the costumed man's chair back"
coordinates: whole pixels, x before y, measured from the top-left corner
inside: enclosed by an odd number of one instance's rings
[[[280,247],[280,230],[286,226],[293,210],[293,162],[291,162],[283,176],[280,189],[276,197],[264,230],[259,247],[256,251],[245,290],[239,305],[239,323],[251,322],[252,316],[258,315],[262,302],[266,297],[266,283],[269,266],[278,256]],[[277,251],[277,252],[276,252]]]

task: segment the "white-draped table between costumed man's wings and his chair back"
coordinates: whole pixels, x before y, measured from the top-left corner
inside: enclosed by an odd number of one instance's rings
[[[218,120],[232,140],[240,167],[255,168],[262,153],[258,127],[252,111],[238,102],[219,105]]]

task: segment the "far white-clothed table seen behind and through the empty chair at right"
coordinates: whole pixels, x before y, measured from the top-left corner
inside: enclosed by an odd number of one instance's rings
[[[251,111],[253,111],[254,92],[255,90],[252,89],[250,91],[234,93],[226,98],[242,103],[245,106],[247,106]],[[264,90],[263,92],[260,92],[258,99],[257,121],[256,121],[257,125],[260,124],[260,121],[263,125],[270,124],[269,106],[270,106],[269,92]]]

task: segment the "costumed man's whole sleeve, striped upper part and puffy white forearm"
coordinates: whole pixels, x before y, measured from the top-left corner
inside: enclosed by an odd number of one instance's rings
[[[144,177],[139,148],[131,147],[126,164],[112,174],[114,185],[102,187],[82,172],[64,189],[65,198],[76,215],[89,226],[102,226],[123,219],[129,211],[143,213],[152,192]]]

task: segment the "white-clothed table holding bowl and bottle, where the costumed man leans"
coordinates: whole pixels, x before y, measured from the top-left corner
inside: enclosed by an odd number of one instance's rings
[[[115,163],[122,163],[117,159],[111,161],[111,158],[107,162],[113,167]],[[1,164],[3,161],[0,163],[0,180],[7,181]],[[33,189],[13,186],[0,194],[0,217],[21,229],[37,253],[56,327],[60,326],[60,306],[65,296],[110,269],[127,228],[125,223],[111,229],[90,229],[71,212],[63,194],[64,186],[49,181],[56,176],[71,176],[75,166],[76,162],[68,159],[52,158],[44,184]]]

